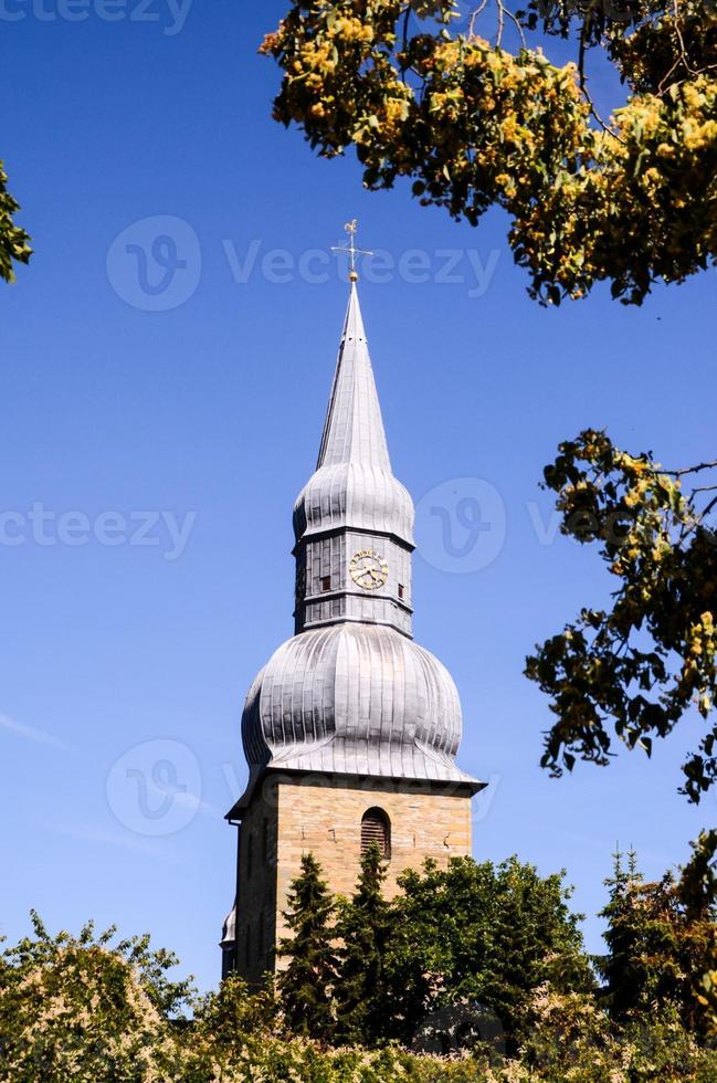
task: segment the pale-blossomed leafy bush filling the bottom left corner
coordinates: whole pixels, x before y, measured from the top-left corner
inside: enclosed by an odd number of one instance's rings
[[[170,1016],[188,1002],[171,981],[176,958],[149,938],[113,944],[95,936],[51,937],[33,913],[34,938],[0,958],[2,1083],[139,1083],[172,1079],[181,1063]]]

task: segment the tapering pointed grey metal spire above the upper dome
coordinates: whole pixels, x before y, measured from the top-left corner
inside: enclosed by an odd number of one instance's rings
[[[356,462],[391,472],[356,282],[351,282],[318,466]]]

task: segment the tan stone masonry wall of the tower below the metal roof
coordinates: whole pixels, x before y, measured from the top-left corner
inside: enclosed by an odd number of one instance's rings
[[[449,858],[471,853],[471,798],[465,792],[421,782],[270,776],[242,826],[238,963],[247,980],[259,980],[273,966],[276,939],[286,935],[282,912],[302,854],[314,854],[335,894],[352,893],[361,818],[373,807],[391,821],[388,897],[396,895],[396,880],[404,869],[419,869],[425,858],[444,865]]]

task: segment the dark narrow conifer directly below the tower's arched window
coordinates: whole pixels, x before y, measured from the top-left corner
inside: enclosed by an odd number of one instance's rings
[[[383,1040],[391,1022],[387,954],[396,917],[383,897],[386,864],[377,843],[361,856],[356,893],[341,906],[337,1037],[340,1042],[372,1045]]]

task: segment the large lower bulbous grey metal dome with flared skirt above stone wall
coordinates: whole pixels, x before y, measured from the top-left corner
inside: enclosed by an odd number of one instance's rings
[[[453,679],[392,628],[339,623],[287,640],[250,688],[242,718],[264,767],[472,784],[455,765]]]

